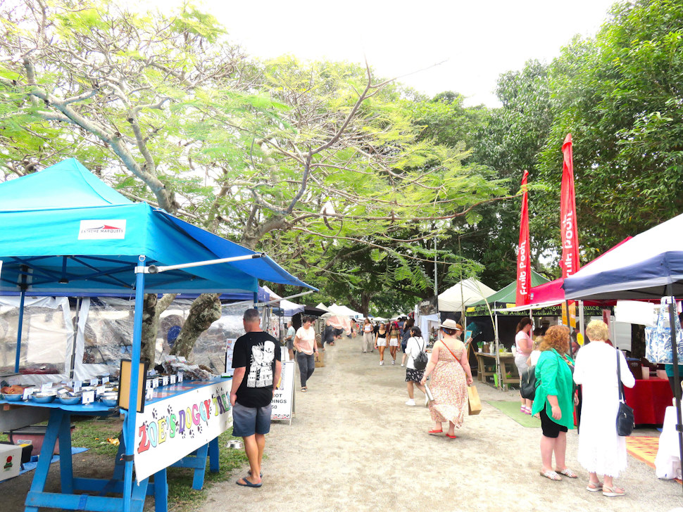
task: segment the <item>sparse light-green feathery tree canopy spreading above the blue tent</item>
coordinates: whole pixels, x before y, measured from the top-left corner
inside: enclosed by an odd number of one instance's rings
[[[419,98],[369,66],[257,62],[187,5],[138,14],[106,0],[25,0],[0,19],[6,173],[78,155],[125,196],[321,286],[360,290],[349,254],[369,247],[363,255],[386,259],[383,283],[424,288],[425,240],[505,193],[487,168],[463,163],[460,132],[425,132],[409,101]]]

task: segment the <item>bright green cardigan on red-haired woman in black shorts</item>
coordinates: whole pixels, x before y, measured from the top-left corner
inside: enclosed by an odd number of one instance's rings
[[[570,361],[571,357],[567,357]],[[536,364],[536,380],[540,382],[536,388],[534,407],[532,414],[540,412],[544,407],[546,414],[551,420],[569,429],[574,428],[574,379],[569,365],[565,363],[557,350],[544,350],[541,352]],[[558,398],[558,405],[562,411],[562,418],[556,420],[550,404],[547,400],[548,395]]]

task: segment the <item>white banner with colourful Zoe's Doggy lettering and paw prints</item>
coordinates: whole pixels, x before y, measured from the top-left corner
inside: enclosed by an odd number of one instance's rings
[[[146,404],[135,416],[133,458],[138,482],[167,468],[232,426],[232,380]]]

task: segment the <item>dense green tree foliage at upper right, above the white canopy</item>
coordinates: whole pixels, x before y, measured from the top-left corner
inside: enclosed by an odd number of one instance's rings
[[[573,41],[553,63],[556,120],[542,179],[558,175],[563,134],[572,132],[587,257],[683,210],[682,27],[678,1],[622,2],[595,39]]]

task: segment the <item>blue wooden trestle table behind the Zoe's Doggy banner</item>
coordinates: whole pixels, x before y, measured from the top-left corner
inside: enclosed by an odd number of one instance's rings
[[[184,386],[187,388],[187,384]],[[172,390],[173,386],[166,387]],[[157,388],[164,390],[165,388]],[[153,404],[165,397],[169,392],[161,392],[151,401]],[[25,501],[25,512],[38,512],[39,507],[65,508],[68,510],[84,510],[93,512],[121,512],[124,509],[124,497],[106,497],[104,494],[124,494],[124,462],[125,462],[125,435],[121,435],[118,454],[116,455],[112,478],[75,478],[73,475],[73,461],[71,456],[71,416],[108,416],[116,409],[104,406],[100,402],[92,404],[63,405],[56,402],[38,404],[36,402],[7,402],[0,400],[0,405],[18,407],[46,407],[50,409],[50,416],[42,445],[42,454],[33,476],[30,491]],[[120,410],[126,414],[125,410]],[[59,442],[60,453],[60,482],[61,492],[45,492],[45,484],[50,468],[51,454],[54,452],[56,443]],[[132,440],[130,441],[132,442]],[[193,489],[201,489],[206,471],[206,459],[209,459],[209,468],[213,473],[219,471],[218,462],[218,437],[204,444],[192,454],[183,456],[170,466],[181,468],[193,468]],[[74,494],[80,491],[82,494]],[[151,478],[141,480],[138,485],[132,486],[130,500],[131,512],[142,512],[146,496],[154,496],[155,511],[168,511],[168,484],[166,482],[166,469],[154,473]]]

